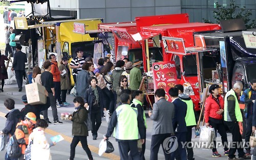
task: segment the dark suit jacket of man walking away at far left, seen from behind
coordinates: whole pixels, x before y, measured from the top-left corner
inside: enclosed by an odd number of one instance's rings
[[[27,62],[27,55],[22,51],[15,53],[12,67],[14,71],[25,71],[25,63]]]

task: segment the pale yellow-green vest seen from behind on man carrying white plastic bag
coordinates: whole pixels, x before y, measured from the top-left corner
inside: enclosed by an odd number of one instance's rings
[[[122,104],[116,108],[117,124],[114,136],[118,140],[140,139],[138,129],[138,110],[129,104]]]

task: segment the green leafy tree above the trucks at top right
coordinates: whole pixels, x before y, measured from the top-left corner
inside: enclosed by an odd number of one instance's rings
[[[251,10],[247,10],[245,6],[240,9],[240,7],[235,5],[234,3],[235,1],[231,0],[228,8],[222,7],[221,5],[219,5],[218,2],[215,3],[217,10],[214,11],[214,14],[215,14],[214,18],[216,19],[216,23],[219,24],[220,20],[225,20],[225,19],[242,18],[244,20],[244,24],[246,28],[255,28],[256,27],[255,20],[250,19],[250,16],[252,15]],[[239,12],[236,12],[238,10]],[[203,21],[207,23],[213,23],[212,21],[205,18],[203,18]]]

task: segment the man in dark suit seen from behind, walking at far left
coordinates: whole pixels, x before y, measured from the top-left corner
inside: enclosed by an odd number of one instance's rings
[[[13,59],[12,71],[15,71],[15,77],[18,84],[18,92],[22,92],[23,75],[25,73],[25,63],[27,62],[27,55],[23,53],[22,46],[16,45],[16,53]]]

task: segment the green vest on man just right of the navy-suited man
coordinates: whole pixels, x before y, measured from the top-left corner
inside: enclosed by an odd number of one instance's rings
[[[196,117],[195,117],[195,113],[194,113],[194,104],[193,104],[192,100],[182,100],[182,101],[187,104],[187,113],[186,113],[186,117],[185,117],[186,125],[187,126],[197,125]]]

